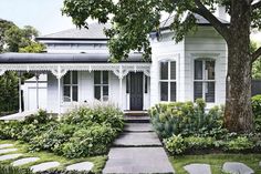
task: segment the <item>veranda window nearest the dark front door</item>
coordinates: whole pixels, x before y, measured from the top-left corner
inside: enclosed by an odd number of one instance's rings
[[[108,100],[108,72],[94,72],[94,98],[101,101]]]

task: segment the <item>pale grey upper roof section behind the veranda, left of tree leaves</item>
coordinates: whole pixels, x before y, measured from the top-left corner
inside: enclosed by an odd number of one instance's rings
[[[39,37],[36,40],[107,40],[107,37],[104,34],[104,28],[108,29],[111,28],[111,24],[91,23],[88,29],[69,29]]]

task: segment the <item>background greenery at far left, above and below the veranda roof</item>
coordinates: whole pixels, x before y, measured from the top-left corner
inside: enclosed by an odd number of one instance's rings
[[[0,20],[0,53],[1,52],[42,52],[44,47],[33,41],[38,37],[36,29],[25,25],[20,29],[14,23]],[[22,75],[22,80],[32,75]],[[13,113],[18,111],[18,74],[6,72],[0,76],[0,113]]]

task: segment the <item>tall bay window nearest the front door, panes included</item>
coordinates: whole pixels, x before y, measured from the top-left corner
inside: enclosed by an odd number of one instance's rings
[[[160,62],[160,101],[176,101],[176,62]]]

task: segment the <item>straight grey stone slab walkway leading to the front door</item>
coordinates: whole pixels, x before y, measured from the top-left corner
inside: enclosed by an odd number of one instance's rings
[[[103,173],[175,173],[148,116],[129,116]]]

